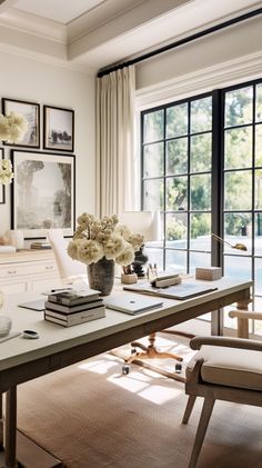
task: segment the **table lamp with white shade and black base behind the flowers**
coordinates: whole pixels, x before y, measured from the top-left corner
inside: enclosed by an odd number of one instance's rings
[[[120,223],[128,226],[132,232],[143,236],[144,242],[159,239],[160,213],[158,211],[124,211],[120,216]],[[134,261],[132,262],[133,271],[139,278],[145,276],[143,267],[148,260],[143,243],[134,253]]]

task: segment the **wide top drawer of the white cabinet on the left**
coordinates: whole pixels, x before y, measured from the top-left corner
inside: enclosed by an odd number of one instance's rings
[[[18,276],[31,276],[37,273],[56,272],[54,261],[30,262],[30,263],[9,263],[0,266],[0,278],[12,278]]]

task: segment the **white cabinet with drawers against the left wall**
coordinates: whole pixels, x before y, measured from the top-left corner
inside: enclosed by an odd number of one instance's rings
[[[8,293],[61,287],[52,250],[0,255],[0,290]]]

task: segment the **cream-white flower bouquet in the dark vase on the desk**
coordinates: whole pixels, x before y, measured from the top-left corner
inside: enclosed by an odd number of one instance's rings
[[[115,215],[99,220],[93,215],[82,213],[78,225],[68,245],[68,255],[85,265],[95,263],[105,257],[118,265],[128,266],[143,243],[143,236],[132,233],[127,226],[119,225]]]

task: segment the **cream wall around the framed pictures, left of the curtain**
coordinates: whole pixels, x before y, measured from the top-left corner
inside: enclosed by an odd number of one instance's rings
[[[37,151],[43,151],[42,104],[74,110],[75,213],[94,212],[94,77],[3,51],[0,51],[0,98],[40,103],[41,145]],[[3,148],[4,157],[9,157],[11,147]],[[0,236],[10,229],[10,191],[7,187],[6,205],[0,205]]]

